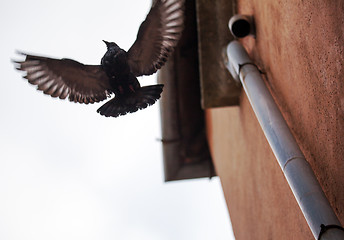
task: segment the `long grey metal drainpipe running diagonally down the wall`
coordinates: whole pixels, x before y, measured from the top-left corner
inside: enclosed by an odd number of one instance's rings
[[[318,240],[343,240],[344,229],[312,168],[267,89],[258,68],[238,41],[227,47],[227,68],[239,80],[291,190]]]

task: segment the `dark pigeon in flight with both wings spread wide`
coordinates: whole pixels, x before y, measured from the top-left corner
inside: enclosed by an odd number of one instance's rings
[[[115,97],[97,112],[118,117],[154,104],[162,84],[141,87],[138,76],[151,75],[172,54],[183,31],[184,0],[155,0],[142,22],[136,41],[128,51],[114,42],[104,43],[107,52],[100,65],[85,65],[72,59],[54,59],[19,53],[23,61],[14,61],[24,78],[52,97],[78,103],[100,102]]]

